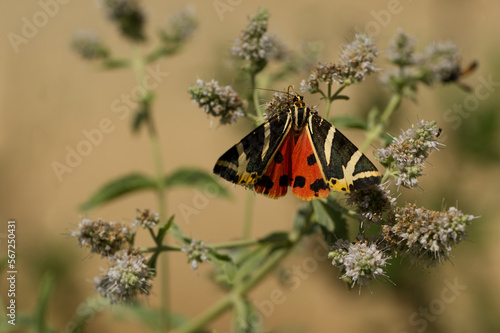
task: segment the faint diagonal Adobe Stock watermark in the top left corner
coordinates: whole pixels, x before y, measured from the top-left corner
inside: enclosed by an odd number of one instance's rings
[[[71,0],[39,0],[39,10],[33,13],[30,17],[23,16],[21,18],[20,33],[8,32],[7,39],[14,53],[19,53],[21,45],[26,45],[31,39],[35,38],[40,29],[45,27],[50,19],[54,18],[61,9],[61,5],[66,5]]]

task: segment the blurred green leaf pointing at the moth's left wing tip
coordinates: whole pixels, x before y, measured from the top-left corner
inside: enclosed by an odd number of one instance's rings
[[[167,188],[190,186],[202,189],[207,197],[229,198],[229,192],[222,187],[212,174],[194,168],[181,168],[165,176]]]

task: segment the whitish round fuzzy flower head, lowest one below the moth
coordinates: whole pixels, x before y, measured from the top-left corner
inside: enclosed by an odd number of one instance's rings
[[[379,276],[385,276],[384,268],[390,259],[384,252],[377,248],[375,243],[367,240],[358,240],[351,243],[339,239],[328,258],[332,264],[342,272],[341,279],[347,281],[350,286],[356,283],[359,286],[368,285]]]

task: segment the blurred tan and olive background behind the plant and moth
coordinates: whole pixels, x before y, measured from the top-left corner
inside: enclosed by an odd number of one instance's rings
[[[144,132],[131,134],[132,119],[113,113],[113,103],[130,94],[135,78],[130,70],[104,71],[83,61],[70,48],[74,33],[92,29],[106,41],[113,53],[131,56],[115,25],[107,21],[98,1],[61,3],[35,31],[28,31],[13,47],[9,34],[22,36],[26,20],[33,22],[44,3],[51,1],[2,1],[0,48],[0,252],[6,251],[6,222],[17,221],[17,305],[18,313],[35,308],[41,277],[52,271],[56,287],[49,303],[49,323],[64,331],[78,305],[95,294],[92,280],[106,267],[98,256],[89,256],[70,238],[82,217],[129,222],[136,209],[155,210],[153,194],[127,196],[82,215],[79,205],[108,180],[133,171],[153,173],[149,143]],[[53,1],[52,1],[53,2]],[[57,2],[59,3],[59,2]],[[185,1],[143,1],[147,32],[154,36],[167,18],[186,5]],[[220,4],[224,6],[221,7]],[[421,189],[402,189],[398,198],[429,209],[456,206],[466,214],[480,216],[469,228],[468,241],[454,250],[452,262],[434,269],[400,265],[395,259],[389,271],[391,281],[380,280],[370,288],[348,291],[338,280],[337,270],[327,260],[311,264],[320,242],[302,244],[277,273],[250,294],[255,304],[267,304],[271,292],[279,289],[285,301],[265,316],[264,327],[275,332],[499,332],[500,319],[500,63],[497,1],[206,1],[188,3],[196,12],[199,28],[183,51],[158,62],[168,73],[159,82],[154,117],[160,131],[166,171],[195,166],[210,171],[216,159],[250,129],[240,121],[235,126],[218,126],[193,104],[187,93],[197,78],[233,84],[228,65],[230,48],[247,18],[259,7],[271,13],[269,31],[279,35],[291,49],[302,41],[321,41],[323,61],[337,61],[341,44],[352,40],[353,31],[375,37],[380,50],[402,27],[418,38],[420,50],[433,40],[453,40],[462,51],[463,65],[477,60],[479,68],[463,82],[466,93],[454,85],[421,87],[416,102],[403,101],[390,131],[399,134],[417,120],[436,120],[443,129],[446,146],[433,152]],[[219,8],[218,10],[216,8]],[[224,8],[221,10],[221,8]],[[43,23],[43,22],[42,22]],[[26,31],[25,31],[26,32]],[[10,35],[12,36],[12,34]],[[151,38],[154,39],[154,38]],[[150,41],[150,43],[153,43]],[[147,46],[146,46],[147,47]],[[384,55],[377,65],[384,68]],[[308,74],[297,75],[281,86],[299,87]],[[480,95],[476,88],[481,89]],[[491,83],[492,82],[492,83]],[[486,87],[486,86],[485,86]],[[489,89],[489,90],[488,90]],[[338,101],[331,115],[364,115],[372,105],[384,105],[388,92],[380,88],[375,75],[346,91],[350,102]],[[489,92],[487,96],[486,92]],[[309,105],[324,107],[316,96],[305,96]],[[264,102],[264,101],[262,101]],[[454,105],[465,111],[460,121]],[[451,112],[451,113],[450,113]],[[58,177],[53,163],[65,164],[69,149],[85,139],[84,131],[99,128],[103,119],[112,128],[103,140],[82,158],[71,172]],[[363,133],[342,130],[356,144]],[[369,154],[371,156],[371,153]],[[373,159],[372,159],[373,160]],[[198,213],[182,218],[182,207],[193,206],[197,192],[175,190],[167,198],[169,213],[179,217],[186,235],[209,243],[241,237],[245,190],[225,183],[232,200],[210,199]],[[290,230],[294,212],[301,202],[288,195],[275,201],[255,197],[253,237],[273,230]],[[223,213],[222,213],[223,212]],[[143,237],[144,236],[144,237]],[[136,243],[149,245],[148,237]],[[304,266],[308,271],[291,288],[280,284],[280,271]],[[312,265],[312,266],[307,266]],[[193,271],[184,254],[171,255],[172,303],[176,312],[196,316],[219,299],[224,291],[210,279],[210,265]],[[395,285],[394,285],[394,284]],[[0,281],[6,301],[5,274]],[[455,285],[455,287],[450,287]],[[145,300],[157,307],[159,289]],[[455,296],[455,297],[453,297]],[[4,303],[5,304],[5,303]],[[259,305],[257,305],[259,307]],[[425,312],[425,309],[430,309]],[[265,314],[265,313],[264,313]],[[230,313],[209,325],[217,332],[231,330]],[[3,320],[3,319],[2,319]],[[88,332],[146,332],[134,318],[117,318],[107,312],[98,315]]]

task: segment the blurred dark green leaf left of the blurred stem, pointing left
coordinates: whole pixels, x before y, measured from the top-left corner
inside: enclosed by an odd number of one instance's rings
[[[133,173],[105,184],[80,208],[90,210],[125,194],[145,189],[156,189],[156,181],[144,174]]]

